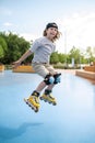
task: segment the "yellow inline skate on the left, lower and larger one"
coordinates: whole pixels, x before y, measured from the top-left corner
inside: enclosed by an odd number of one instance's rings
[[[29,98],[24,99],[26,105],[28,105],[35,112],[38,112],[39,109],[39,94],[37,91],[34,91]]]

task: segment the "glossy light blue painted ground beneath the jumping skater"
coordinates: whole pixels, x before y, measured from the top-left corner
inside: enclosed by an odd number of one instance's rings
[[[0,73],[0,143],[95,143],[95,86],[62,73],[58,105],[40,101],[35,113],[23,98],[39,81],[36,74]]]

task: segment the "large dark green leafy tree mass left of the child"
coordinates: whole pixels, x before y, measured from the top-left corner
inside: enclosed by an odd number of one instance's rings
[[[9,34],[0,33],[1,38],[5,41],[4,46],[2,47],[3,64],[11,64],[14,61],[17,61],[25,52],[29,48],[29,42],[25,41],[23,37],[20,37],[16,34]],[[5,46],[7,45],[7,46]]]

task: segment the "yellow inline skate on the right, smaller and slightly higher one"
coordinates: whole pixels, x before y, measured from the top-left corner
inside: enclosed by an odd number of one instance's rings
[[[46,89],[44,95],[40,97],[40,100],[45,102],[52,103],[54,106],[57,105],[56,99],[50,95],[51,90]]]

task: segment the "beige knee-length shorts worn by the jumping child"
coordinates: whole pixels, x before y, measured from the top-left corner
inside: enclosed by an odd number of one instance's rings
[[[49,64],[32,63],[35,73],[41,77],[46,77],[48,74],[55,75],[57,72]]]

